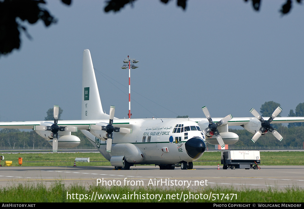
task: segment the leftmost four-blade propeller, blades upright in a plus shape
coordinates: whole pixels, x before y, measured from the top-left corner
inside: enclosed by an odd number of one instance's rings
[[[58,115],[59,115],[59,106],[54,105],[54,124],[51,126],[45,125],[35,125],[34,131],[51,131],[51,137],[53,138],[53,152],[57,152],[58,149],[58,132],[59,131],[69,131],[77,132],[77,127],[75,126],[58,126]],[[43,123],[42,123],[43,124]]]

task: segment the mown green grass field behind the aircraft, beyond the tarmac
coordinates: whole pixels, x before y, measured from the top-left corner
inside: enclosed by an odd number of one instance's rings
[[[22,158],[22,166],[73,166],[76,157],[89,157],[90,163],[77,163],[77,166],[110,166],[100,153],[0,153],[4,161],[12,161],[12,166],[19,166],[18,159]],[[304,165],[304,152],[260,152],[261,165]],[[2,166],[5,163],[2,160]],[[221,164],[220,152],[205,152],[193,165]]]

